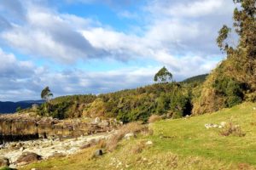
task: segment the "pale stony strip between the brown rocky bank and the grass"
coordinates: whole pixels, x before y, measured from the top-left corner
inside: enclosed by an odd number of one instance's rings
[[[48,159],[51,156],[73,155],[88,144],[96,144],[101,139],[108,139],[114,132],[113,130],[109,133],[81,136],[73,139],[37,139],[9,142],[0,145],[0,156],[8,158],[9,167],[15,168],[27,163],[26,161],[19,161],[20,156],[22,157],[26,153],[34,153],[40,159]]]

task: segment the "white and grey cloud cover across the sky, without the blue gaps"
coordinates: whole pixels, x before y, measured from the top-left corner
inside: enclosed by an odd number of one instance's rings
[[[26,18],[22,24],[0,16],[0,26],[8,28],[1,30],[0,35],[2,42],[12,48],[30,54],[31,58],[51,59],[56,65],[75,66],[76,61],[95,58],[152,59],[157,65],[166,65],[177,81],[214,68],[218,59],[212,56],[221,55],[215,38],[218,29],[231,20],[232,2],[154,0],[147,4],[142,14],[118,13],[130,19],[143,18],[143,33],[139,35],[134,31],[115,31],[97,20],[61,14],[35,3],[29,3],[22,12]],[[160,69],[131,66],[113,71],[49,71],[3,50],[0,62],[0,100],[17,99],[19,92],[24,94],[20,100],[38,99],[44,86],[49,86],[55,96],[136,88],[151,83]]]

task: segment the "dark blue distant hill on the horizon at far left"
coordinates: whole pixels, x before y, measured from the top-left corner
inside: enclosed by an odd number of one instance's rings
[[[26,100],[26,101],[19,101],[19,102],[12,102],[12,101],[0,101],[0,114],[3,113],[15,113],[17,107],[21,109],[26,109],[31,107],[33,104],[42,104],[44,103],[43,100]]]

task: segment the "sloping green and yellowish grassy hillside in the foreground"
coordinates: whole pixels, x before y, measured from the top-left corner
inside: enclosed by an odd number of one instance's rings
[[[76,156],[54,158],[21,169],[255,169],[256,104],[244,103],[212,114],[165,120],[150,124],[154,133],[122,140],[119,147],[102,157],[91,158],[96,147]],[[226,128],[205,127],[206,123],[232,122]],[[239,133],[243,133],[239,137]],[[145,143],[150,140],[152,145]],[[97,146],[99,147],[99,146]]]

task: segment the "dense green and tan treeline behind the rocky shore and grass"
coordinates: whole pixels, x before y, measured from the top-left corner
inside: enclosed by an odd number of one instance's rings
[[[65,119],[80,116],[116,117],[123,122],[147,122],[152,114],[178,118],[191,114],[193,91],[201,78],[187,82],[162,82],[98,96],[72,95],[38,106],[38,115]]]

